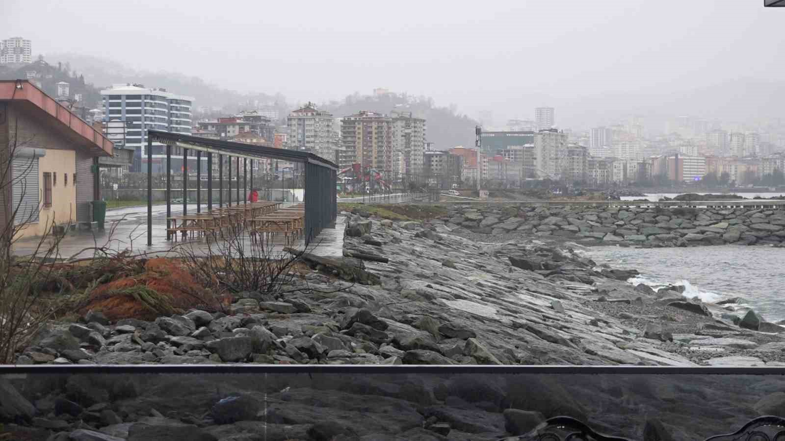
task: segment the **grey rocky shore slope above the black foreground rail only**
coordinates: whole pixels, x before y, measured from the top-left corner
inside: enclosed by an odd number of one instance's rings
[[[772,350],[780,341],[785,348],[783,327],[761,320],[758,327],[739,327],[734,304],[687,299],[683,286],[657,292],[632,286],[626,279],[637,272],[597,267],[575,253],[576,244],[536,237],[476,242],[440,219],[349,216],[344,253],[363,261],[305,254],[312,269],[287,294],[237,293],[225,312],[110,322],[91,311],[81,323],[53,323],[16,363],[785,361],[785,353]],[[647,337],[653,328],[673,338]],[[736,356],[758,360],[714,360]]]

